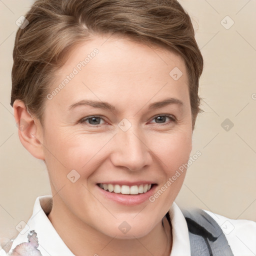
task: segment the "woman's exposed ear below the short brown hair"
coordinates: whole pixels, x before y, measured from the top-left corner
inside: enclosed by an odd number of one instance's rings
[[[40,121],[30,115],[21,100],[14,101],[13,112],[20,142],[34,157],[44,160],[43,130]]]

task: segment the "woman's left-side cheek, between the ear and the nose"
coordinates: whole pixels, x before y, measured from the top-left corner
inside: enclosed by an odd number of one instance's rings
[[[46,165],[53,172],[61,171],[64,177],[72,169],[89,176],[100,164],[100,151],[112,136],[72,131],[70,127],[51,129],[44,136]]]

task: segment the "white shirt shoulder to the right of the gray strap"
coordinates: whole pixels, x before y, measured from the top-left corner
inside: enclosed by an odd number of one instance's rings
[[[231,219],[203,210],[220,226],[234,256],[256,255],[256,222],[246,219]]]

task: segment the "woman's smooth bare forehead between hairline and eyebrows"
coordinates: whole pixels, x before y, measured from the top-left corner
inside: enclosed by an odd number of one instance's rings
[[[146,103],[164,96],[183,101],[189,98],[185,63],[179,55],[129,38],[104,35],[70,51],[56,73],[50,93],[57,87],[61,89],[53,93],[50,104],[65,109],[86,99],[113,104],[118,101],[127,107],[135,100]]]

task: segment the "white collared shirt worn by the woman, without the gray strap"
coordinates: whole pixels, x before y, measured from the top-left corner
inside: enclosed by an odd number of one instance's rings
[[[32,216],[27,225],[14,239],[10,252],[18,244],[27,242],[30,230],[37,233],[42,256],[74,256],[52,226],[47,214],[50,212],[51,195],[38,196],[35,200]],[[205,210],[224,232],[234,256],[256,255],[256,222],[243,219],[229,219]],[[169,209],[172,228],[172,248],[170,256],[191,256],[186,220],[175,202]],[[9,255],[0,249],[0,256]]]

